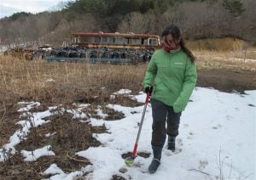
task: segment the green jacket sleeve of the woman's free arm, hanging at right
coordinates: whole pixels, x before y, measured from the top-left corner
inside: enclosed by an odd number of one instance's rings
[[[179,94],[177,100],[173,104],[174,112],[179,113],[185,109],[186,105],[189,102],[189,98],[193,92],[193,89],[195,88],[196,80],[197,72],[195,63],[192,63],[190,60],[188,60],[185,70],[183,89]]]

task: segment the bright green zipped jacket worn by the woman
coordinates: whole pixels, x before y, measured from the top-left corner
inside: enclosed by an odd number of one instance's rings
[[[149,62],[143,86],[153,86],[152,98],[173,106],[178,113],[188,104],[196,79],[195,64],[182,49],[167,53],[161,48]]]

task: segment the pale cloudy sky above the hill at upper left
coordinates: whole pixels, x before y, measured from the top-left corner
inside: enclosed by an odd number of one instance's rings
[[[61,2],[74,0],[0,0],[0,18],[25,11],[32,14],[60,7]]]

